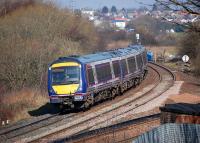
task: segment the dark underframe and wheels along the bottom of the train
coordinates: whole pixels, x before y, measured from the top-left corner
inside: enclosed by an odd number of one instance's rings
[[[96,103],[108,99],[112,100],[118,95],[123,95],[123,93],[126,92],[128,89],[139,85],[141,81],[145,79],[147,72],[148,72],[147,70],[144,70],[142,74],[138,74],[137,76],[128,78],[127,80],[124,80],[122,83],[119,82],[113,85],[112,87],[89,93],[88,95],[84,96],[82,101],[74,101],[74,96],[67,96],[67,97],[61,97],[62,102],[58,104],[54,103],[54,105],[58,106],[60,109],[87,110]]]

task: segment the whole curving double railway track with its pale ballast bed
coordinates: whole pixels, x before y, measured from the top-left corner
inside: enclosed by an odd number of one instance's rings
[[[116,101],[113,101],[114,103],[107,102],[104,106],[99,105],[88,112],[63,116],[49,116],[47,119],[43,118],[39,121],[26,123],[26,125],[24,124],[23,126],[18,125],[16,127],[7,128],[4,131],[0,130],[0,140],[3,139],[7,142],[37,142],[41,140],[64,141],[72,135],[108,126],[111,124],[111,121],[119,120],[124,115],[146,104],[149,100],[156,98],[173,85],[175,77],[169,70],[165,69],[165,74],[163,74],[162,69],[164,69],[164,67],[152,63],[149,65],[149,68],[154,72],[150,79],[152,77],[155,79],[157,77],[159,78],[154,81],[154,84],[149,82],[148,86],[143,85],[142,91],[135,93],[134,96],[131,96],[133,94],[131,92],[132,90],[130,90],[125,93],[123,97],[120,97],[123,100],[119,100],[120,98],[118,99],[120,102],[117,102],[118,100],[116,99]],[[162,81],[164,83],[168,82],[164,84]],[[155,92],[153,90],[161,83],[165,85],[165,89],[163,89],[162,92],[159,92],[156,96],[151,96],[151,98],[144,99],[146,95]]]

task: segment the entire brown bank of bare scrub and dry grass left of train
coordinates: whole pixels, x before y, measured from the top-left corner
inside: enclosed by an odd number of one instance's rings
[[[92,23],[51,4],[6,1],[0,8],[0,121],[17,121],[48,102],[51,61],[99,51],[101,40]]]

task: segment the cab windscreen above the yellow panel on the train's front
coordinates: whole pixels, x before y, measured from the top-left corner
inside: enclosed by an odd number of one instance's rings
[[[79,84],[80,67],[61,67],[52,69],[52,84],[53,85],[68,85]]]

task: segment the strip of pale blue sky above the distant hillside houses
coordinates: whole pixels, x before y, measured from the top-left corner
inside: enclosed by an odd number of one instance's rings
[[[55,2],[61,7],[74,7],[77,8],[93,8],[102,9],[102,7],[107,6],[111,8],[113,5],[117,9],[121,8],[139,8],[144,6],[144,4],[152,5],[155,0],[55,0]]]

